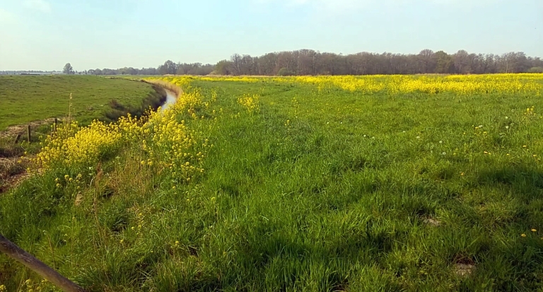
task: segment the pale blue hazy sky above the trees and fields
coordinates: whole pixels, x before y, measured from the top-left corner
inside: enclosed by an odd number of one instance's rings
[[[0,0],[0,71],[295,49],[543,57],[543,0]]]

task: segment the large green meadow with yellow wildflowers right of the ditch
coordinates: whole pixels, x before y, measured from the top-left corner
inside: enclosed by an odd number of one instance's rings
[[[0,233],[89,291],[543,289],[543,75],[165,80],[45,141]]]

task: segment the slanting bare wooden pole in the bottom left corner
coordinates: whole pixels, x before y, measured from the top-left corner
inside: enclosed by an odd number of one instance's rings
[[[47,264],[44,264],[40,260],[37,260],[30,253],[25,252],[17,245],[8,241],[7,238],[0,234],[0,252],[5,253],[13,260],[21,262],[29,269],[33,270],[40,276],[44,277],[47,281],[56,285],[66,292],[83,292],[83,288],[75,284],[74,282],[66,279],[54,269],[51,269]]]

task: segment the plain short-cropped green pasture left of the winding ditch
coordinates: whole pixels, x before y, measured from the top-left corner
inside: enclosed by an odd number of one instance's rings
[[[113,99],[125,107],[141,107],[156,92],[146,83],[96,76],[0,76],[0,130],[66,116],[70,94],[74,117],[86,124],[106,118]]]

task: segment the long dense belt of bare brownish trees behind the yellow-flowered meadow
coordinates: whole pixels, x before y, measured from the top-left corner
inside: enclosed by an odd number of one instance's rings
[[[373,75],[543,73],[543,60],[523,52],[455,54],[424,49],[419,54],[320,53],[310,49],[250,56],[233,54],[217,63],[220,75]]]

